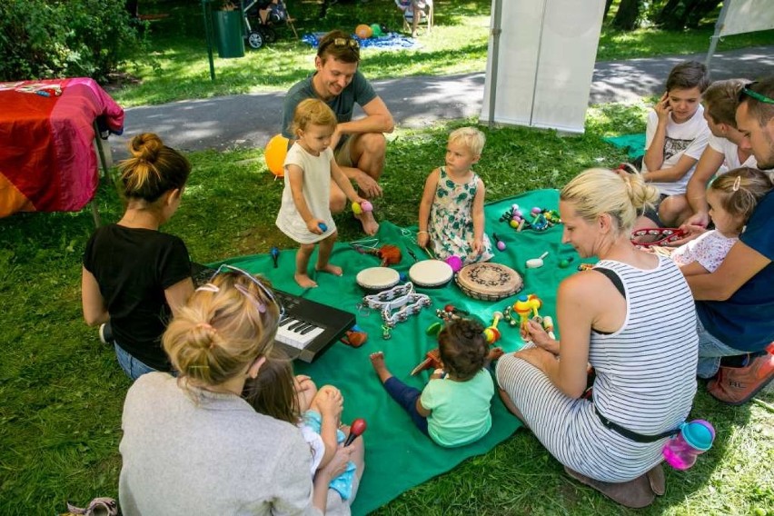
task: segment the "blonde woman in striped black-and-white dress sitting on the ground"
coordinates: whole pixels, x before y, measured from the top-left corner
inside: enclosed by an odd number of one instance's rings
[[[576,479],[630,507],[663,492],[661,448],[685,421],[696,392],[696,311],[680,270],[637,250],[630,230],[658,196],[639,174],[591,169],[561,191],[563,243],[594,269],[564,280],[561,342],[540,324],[531,343],[503,356],[503,402]],[[593,400],[587,387],[594,367]]]

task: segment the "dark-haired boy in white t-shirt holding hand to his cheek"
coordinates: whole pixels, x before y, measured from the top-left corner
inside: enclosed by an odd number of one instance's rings
[[[660,201],[667,195],[685,193],[707,146],[710,129],[700,100],[709,84],[705,65],[690,61],[675,66],[667,78],[666,93],[648,116],[642,176],[659,189]],[[660,224],[658,205],[644,214],[650,221],[638,223],[635,229]]]

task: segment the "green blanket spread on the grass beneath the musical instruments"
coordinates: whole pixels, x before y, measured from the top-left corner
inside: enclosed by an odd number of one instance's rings
[[[537,294],[543,301],[541,314],[551,315],[555,319],[557,286],[563,278],[576,271],[578,256],[570,246],[561,244],[561,224],[538,233],[531,230],[517,232],[508,223],[501,222],[501,215],[509,210],[513,203],[518,203],[524,213],[528,213],[533,206],[556,210],[559,207],[559,193],[556,190],[524,193],[488,204],[485,208],[487,233],[490,237],[492,233],[497,233],[507,245],[503,252],[494,251],[492,262],[504,263],[518,271],[524,280],[521,294]],[[377,247],[392,243],[402,248],[401,263],[392,266],[400,273],[408,274],[413,263],[410,255],[406,253],[407,249],[412,249],[419,259],[426,257],[416,245],[416,227],[401,228],[382,221],[376,238],[379,240]],[[494,245],[493,239],[492,244]],[[440,321],[436,316],[436,309],[452,303],[489,324],[492,313],[503,311],[516,300],[516,295],[491,303],[467,297],[453,281],[442,288],[417,288],[417,292],[426,293],[431,297],[432,306],[412,315],[406,322],[398,323],[392,331],[392,338],[384,340],[380,313],[359,308],[364,293],[355,281],[358,272],[379,265],[379,259],[356,252],[349,243],[336,243],[331,263],[342,266],[343,276],[318,273],[314,279],[319,286],[303,291],[293,281],[295,251],[281,251],[279,267],[276,269],[273,268],[272,259],[268,254],[244,256],[227,262],[251,273],[263,273],[271,279],[275,287],[285,292],[355,313],[357,325],[368,332],[368,342],[360,348],[355,349],[337,342],[316,362],[307,364],[297,361],[294,364],[296,373],[312,376],[318,387],[331,383],[342,391],[342,422],[349,423],[354,418],[361,417],[368,424],[368,429],[363,434],[366,449],[365,474],[357,498],[352,503],[353,514],[373,511],[403,491],[451,470],[461,461],[488,452],[521,426],[495,394],[491,405],[491,431],[479,442],[461,448],[444,449],[414,427],[408,414],[383,390],[369,360],[370,353],[383,351],[387,366],[396,377],[422,389],[428,381],[430,371],[416,376],[410,376],[410,372],[415,365],[422,362],[425,352],[436,347],[435,339],[425,332],[432,323]],[[525,262],[528,259],[537,258],[544,252],[549,254],[544,258],[543,267],[526,268]],[[561,259],[571,260],[571,265],[566,268],[559,267]],[[313,255],[310,263],[315,260],[316,255]],[[518,350],[523,345],[518,328],[500,323],[499,329],[502,339],[497,345],[501,345],[506,352]]]

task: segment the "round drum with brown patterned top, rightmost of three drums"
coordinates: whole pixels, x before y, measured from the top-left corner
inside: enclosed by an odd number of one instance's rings
[[[454,280],[465,295],[482,301],[499,301],[524,287],[521,275],[501,263],[465,265]]]

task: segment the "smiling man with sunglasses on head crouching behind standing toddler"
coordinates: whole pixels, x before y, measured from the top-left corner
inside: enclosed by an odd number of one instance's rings
[[[384,168],[387,140],[384,133],[392,133],[392,114],[372,85],[358,71],[360,45],[342,31],[323,36],[314,58],[316,71],[310,77],[294,84],[285,95],[283,104],[283,136],[293,142],[290,132],[296,106],[307,98],[319,98],[336,114],[338,125],[332,136],[331,147],[336,163],[357,184],[363,197],[372,199],[382,195],[378,181]],[[354,104],[362,107],[365,116],[352,120]],[[347,197],[331,184],[331,211],[342,212]],[[356,215],[367,234],[379,230],[371,212]]]

